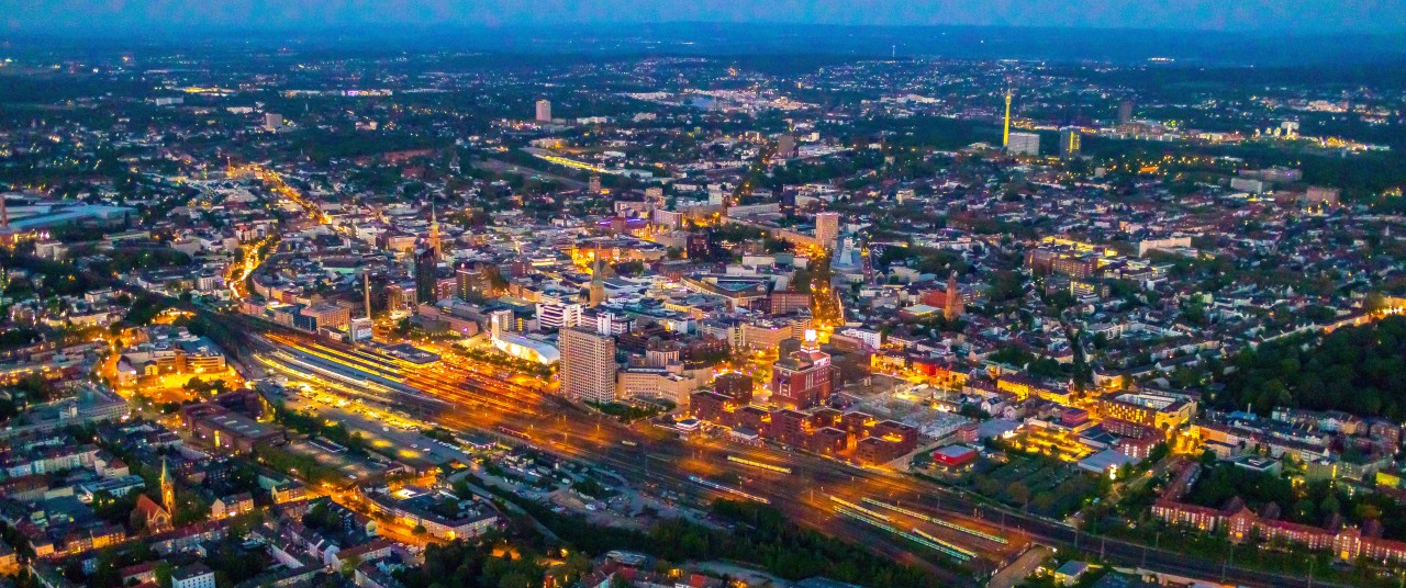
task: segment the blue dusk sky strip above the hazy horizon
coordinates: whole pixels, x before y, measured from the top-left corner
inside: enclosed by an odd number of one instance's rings
[[[554,25],[628,22],[1098,27],[1209,31],[1398,32],[1400,0],[22,0],[11,31],[346,25]]]

